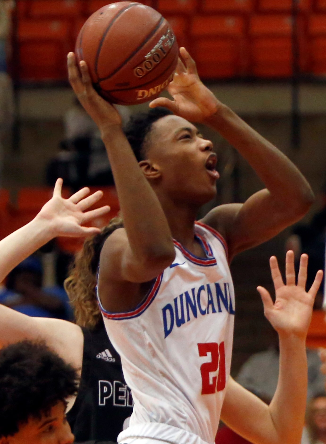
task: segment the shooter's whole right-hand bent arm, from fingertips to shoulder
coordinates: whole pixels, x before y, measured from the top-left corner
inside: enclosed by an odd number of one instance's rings
[[[200,81],[196,64],[180,48],[175,78],[168,87],[173,101],[158,98],[150,106],[164,106],[175,114],[204,123],[218,131],[248,161],[266,189],[242,204],[219,206],[204,219],[228,242],[232,258],[242,250],[264,242],[303,217],[314,194],[303,175],[281,151],[219,102]]]

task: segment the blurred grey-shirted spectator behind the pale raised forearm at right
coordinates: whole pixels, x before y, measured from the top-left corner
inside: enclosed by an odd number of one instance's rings
[[[268,350],[255,353],[242,365],[236,381],[261,399],[271,400],[279,375],[279,341],[272,331]],[[308,399],[325,389],[325,377],[320,373],[321,360],[317,350],[307,349]]]

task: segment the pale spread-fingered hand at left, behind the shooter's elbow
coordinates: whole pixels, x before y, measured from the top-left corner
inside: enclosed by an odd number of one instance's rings
[[[89,194],[85,187],[73,194],[69,199],[61,196],[62,179],[55,182],[52,198],[43,206],[35,217],[38,221],[46,221],[52,230],[52,236],[81,237],[100,232],[99,228],[85,227],[82,224],[102,216],[110,211],[108,205],[95,210],[86,211],[103,196],[102,191]],[[86,197],[87,196],[87,197]]]

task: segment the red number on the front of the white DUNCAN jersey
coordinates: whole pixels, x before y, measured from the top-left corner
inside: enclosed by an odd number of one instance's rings
[[[220,392],[225,388],[225,347],[224,342],[217,344],[216,342],[206,342],[198,344],[199,356],[207,356],[210,353],[211,361],[204,362],[200,367],[202,374],[202,395],[208,395]],[[210,383],[210,372],[216,372],[217,376],[212,377]]]

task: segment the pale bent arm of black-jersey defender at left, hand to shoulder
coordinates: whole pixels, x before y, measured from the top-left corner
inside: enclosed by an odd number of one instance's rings
[[[0,281],[23,259],[56,236],[82,237],[100,230],[83,223],[109,211],[109,206],[87,211],[103,195],[89,194],[83,188],[69,199],[61,196],[62,179],[58,179],[52,198],[27,225],[0,241]],[[35,318],[0,304],[0,346],[23,339],[46,341],[63,359],[79,366],[82,361],[82,331],[67,321]]]

